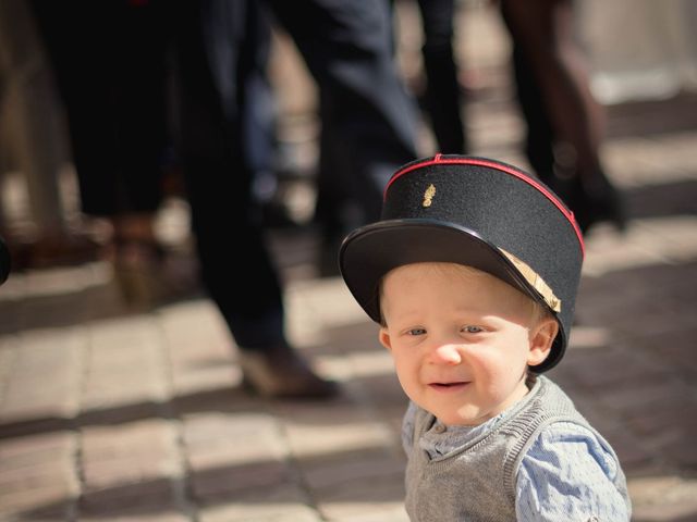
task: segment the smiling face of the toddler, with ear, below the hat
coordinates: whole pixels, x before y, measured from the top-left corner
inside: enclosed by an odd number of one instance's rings
[[[480,424],[523,398],[527,365],[545,360],[558,331],[518,290],[452,263],[393,270],[381,307],[380,341],[404,391],[450,425]]]

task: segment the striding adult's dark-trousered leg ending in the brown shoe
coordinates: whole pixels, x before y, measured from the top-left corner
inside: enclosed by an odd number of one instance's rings
[[[259,4],[203,0],[178,7],[180,153],[204,283],[257,391],[331,396],[333,383],[315,375],[285,338],[281,284],[252,192],[242,119],[249,63],[241,57]]]

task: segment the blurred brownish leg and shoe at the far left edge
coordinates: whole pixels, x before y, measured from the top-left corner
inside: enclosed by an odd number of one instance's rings
[[[0,227],[15,269],[37,269],[93,260],[97,245],[66,212],[61,171],[70,160],[63,114],[30,7],[0,2],[0,184],[16,174],[25,192],[26,220],[12,227],[11,209],[0,198]]]

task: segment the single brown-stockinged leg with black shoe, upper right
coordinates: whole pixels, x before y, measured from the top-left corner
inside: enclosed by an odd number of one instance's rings
[[[603,112],[590,92],[587,67],[574,34],[572,0],[502,0],[515,46],[530,67],[555,137],[574,163],[566,201],[587,231],[600,221],[625,226],[620,192],[606,176],[599,156]],[[553,187],[554,188],[554,187]]]

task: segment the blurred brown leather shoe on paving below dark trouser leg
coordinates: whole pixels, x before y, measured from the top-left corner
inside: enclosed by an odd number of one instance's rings
[[[244,383],[262,397],[328,399],[339,386],[313,372],[289,346],[270,350],[241,350],[240,365]]]

